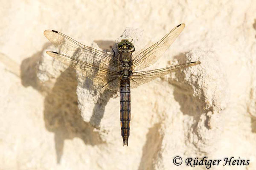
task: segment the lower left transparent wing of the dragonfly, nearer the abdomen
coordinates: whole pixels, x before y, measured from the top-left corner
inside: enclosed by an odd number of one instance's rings
[[[83,76],[88,77],[99,85],[105,86],[110,90],[117,90],[119,88],[120,75],[118,72],[111,72],[96,64],[92,65],[88,62],[84,62],[64,54],[59,54],[57,52],[47,51],[47,54],[65,65],[76,69]]]

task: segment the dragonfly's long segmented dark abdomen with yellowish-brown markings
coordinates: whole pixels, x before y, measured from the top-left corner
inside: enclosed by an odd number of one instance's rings
[[[122,77],[120,81],[120,121],[123,142],[128,146],[131,121],[131,88],[128,77]]]

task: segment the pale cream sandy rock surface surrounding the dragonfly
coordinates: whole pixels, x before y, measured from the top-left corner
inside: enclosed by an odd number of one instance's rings
[[[0,170],[206,169],[177,167],[175,156],[234,156],[250,164],[211,169],[256,169],[256,1],[0,4]],[[150,68],[201,65],[131,91],[129,147],[119,94],[45,54],[57,51],[46,29],[103,49],[126,29],[139,50],[180,23],[183,32]]]

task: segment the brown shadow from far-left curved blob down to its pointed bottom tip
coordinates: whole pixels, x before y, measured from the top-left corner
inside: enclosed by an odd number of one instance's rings
[[[47,45],[44,46],[45,48]],[[71,68],[66,69],[56,79],[52,89],[42,90],[36,77],[36,65],[42,51],[23,60],[20,66],[21,81],[24,87],[32,86],[46,94],[44,99],[45,127],[54,133],[56,159],[60,163],[66,139],[78,137],[83,140],[84,144],[92,146],[104,142],[99,132],[95,132],[94,127],[81,118],[76,94],[76,71]]]

